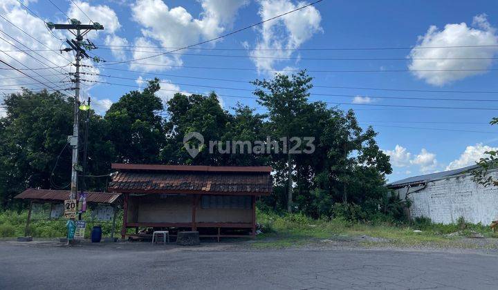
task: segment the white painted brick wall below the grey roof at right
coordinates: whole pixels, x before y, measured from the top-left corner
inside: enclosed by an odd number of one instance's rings
[[[496,172],[490,175],[498,177]],[[412,218],[423,216],[450,224],[463,217],[466,222],[484,225],[498,220],[498,187],[478,185],[470,175],[428,182],[425,189],[410,193],[408,198],[412,200]]]

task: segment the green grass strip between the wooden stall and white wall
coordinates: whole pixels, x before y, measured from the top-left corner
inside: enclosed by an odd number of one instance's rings
[[[433,224],[417,219],[412,224],[387,222],[350,222],[341,218],[313,220],[299,213],[277,215],[257,212],[257,221],[263,233],[252,244],[256,248],[296,247],[321,240],[358,241],[358,244],[375,247],[479,247],[465,242],[464,237],[479,233],[486,238],[498,238],[489,226],[468,224]],[[421,231],[416,232],[415,230]],[[454,233],[452,235],[448,235]],[[361,236],[368,236],[362,241]],[[377,239],[375,239],[377,238]],[[495,243],[498,244],[498,243]],[[494,246],[496,247],[496,246]]]

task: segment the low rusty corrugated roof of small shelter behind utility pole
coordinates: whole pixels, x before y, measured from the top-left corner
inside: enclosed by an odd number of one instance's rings
[[[67,200],[70,191],[56,191],[53,189],[26,189],[14,198],[23,200]],[[121,193],[96,193],[87,192],[86,202],[95,202],[102,204],[112,204],[118,200]]]

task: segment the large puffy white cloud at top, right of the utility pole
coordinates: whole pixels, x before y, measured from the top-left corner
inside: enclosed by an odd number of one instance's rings
[[[178,6],[169,8],[161,0],[138,0],[131,6],[133,20],[143,26],[137,42],[149,43],[157,41],[163,48],[189,46],[201,40],[221,35],[227,27],[232,26],[239,8],[245,6],[247,0],[221,1],[202,0],[200,18],[195,18],[185,8]],[[136,43],[136,45],[138,45]],[[158,52],[134,52],[133,58],[157,55]],[[180,56],[154,57],[142,62],[181,65]],[[136,64],[131,64],[136,66]],[[165,70],[167,67],[146,66],[146,70]]]

